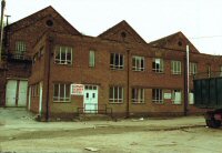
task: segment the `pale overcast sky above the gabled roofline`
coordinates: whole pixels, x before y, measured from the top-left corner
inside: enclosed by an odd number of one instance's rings
[[[202,53],[222,54],[222,0],[6,0],[10,22],[52,6],[97,37],[125,20],[147,42],[182,31]]]

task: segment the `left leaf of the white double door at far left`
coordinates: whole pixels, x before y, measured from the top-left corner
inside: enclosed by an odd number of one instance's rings
[[[17,80],[8,80],[6,106],[16,106],[17,101]]]

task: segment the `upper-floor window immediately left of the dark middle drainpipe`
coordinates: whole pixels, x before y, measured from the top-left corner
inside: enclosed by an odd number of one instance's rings
[[[123,65],[124,65],[123,54],[119,54],[119,53],[110,54],[110,68],[111,69],[122,70]]]

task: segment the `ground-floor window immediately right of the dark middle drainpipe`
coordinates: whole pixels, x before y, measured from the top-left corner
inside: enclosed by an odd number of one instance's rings
[[[144,103],[144,89],[132,89],[132,103]]]

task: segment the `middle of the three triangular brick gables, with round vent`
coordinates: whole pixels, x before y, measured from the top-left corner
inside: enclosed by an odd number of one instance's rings
[[[114,27],[108,29],[100,35],[101,39],[114,40],[120,42],[138,42],[138,43],[147,43],[137,32],[127,22],[121,21]]]

